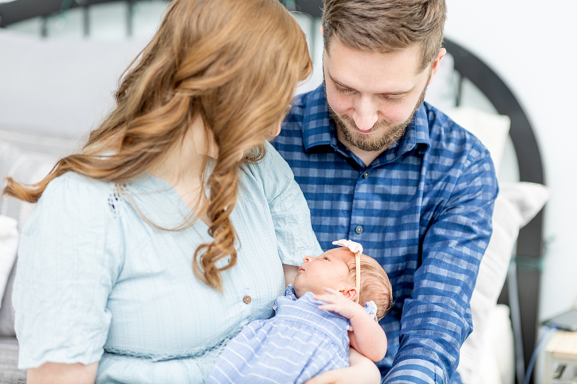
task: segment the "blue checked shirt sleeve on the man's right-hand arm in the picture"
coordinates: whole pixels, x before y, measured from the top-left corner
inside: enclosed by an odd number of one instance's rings
[[[426,231],[413,295],[404,301],[399,350],[383,383],[448,383],[473,330],[469,302],[498,191],[488,151],[474,154]]]

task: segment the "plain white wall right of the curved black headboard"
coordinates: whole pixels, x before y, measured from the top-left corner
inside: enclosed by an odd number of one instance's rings
[[[445,34],[489,64],[516,94],[533,123],[551,200],[539,318],[577,298],[577,2],[447,0]]]

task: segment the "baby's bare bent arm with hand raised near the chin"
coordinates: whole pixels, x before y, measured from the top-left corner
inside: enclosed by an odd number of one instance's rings
[[[379,362],[387,353],[387,335],[378,322],[374,321],[365,309],[347,299],[339,291],[324,288],[326,295],[314,295],[314,299],[328,304],[320,305],[319,309],[336,312],[351,322],[353,331],[349,332],[351,345],[373,362]]]

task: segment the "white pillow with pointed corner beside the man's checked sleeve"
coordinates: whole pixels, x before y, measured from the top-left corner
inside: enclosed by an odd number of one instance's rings
[[[471,296],[473,333],[460,351],[457,371],[464,384],[481,383],[479,368],[484,333],[503,288],[519,229],[533,219],[549,199],[549,192],[541,184],[502,183],[499,188],[493,211],[493,235],[481,260],[477,285]]]

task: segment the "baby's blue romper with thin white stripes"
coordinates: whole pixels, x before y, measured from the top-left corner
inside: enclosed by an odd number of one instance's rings
[[[250,322],[228,343],[206,384],[301,384],[328,370],[349,366],[350,322],[319,309],[312,292],[296,298],[288,286],[276,298],[274,317]],[[376,316],[374,302],[365,310]]]

